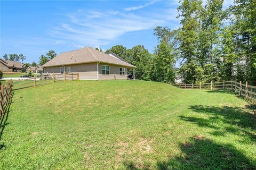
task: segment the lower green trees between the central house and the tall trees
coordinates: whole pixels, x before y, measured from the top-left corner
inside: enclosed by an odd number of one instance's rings
[[[136,66],[136,79],[174,82],[175,72],[173,67],[175,60],[172,47],[166,42],[161,41],[153,55],[143,45],[134,46],[131,49],[116,45],[106,50],[105,53],[109,51]],[[129,74],[132,74],[132,71]]]

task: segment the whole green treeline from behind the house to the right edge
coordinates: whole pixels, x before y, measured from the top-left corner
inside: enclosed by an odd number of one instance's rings
[[[181,27],[157,27],[154,54],[142,45],[108,50],[137,66],[142,80],[185,83],[241,80],[256,84],[256,1],[235,0],[222,10],[223,0],[184,0],[178,7]],[[107,50],[107,52],[108,52]],[[180,68],[175,69],[179,61]]]

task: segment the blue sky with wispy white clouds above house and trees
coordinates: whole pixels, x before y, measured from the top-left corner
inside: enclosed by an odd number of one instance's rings
[[[23,54],[25,62],[54,50],[157,46],[154,28],[177,29],[179,0],[170,1],[0,1],[0,54]],[[205,3],[205,1],[204,1]],[[223,8],[233,0],[225,0]]]

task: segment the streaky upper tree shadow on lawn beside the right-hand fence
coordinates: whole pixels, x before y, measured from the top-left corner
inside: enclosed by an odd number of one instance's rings
[[[252,109],[251,106],[247,108]],[[180,118],[201,127],[214,129],[215,131],[211,132],[213,135],[225,136],[227,133],[233,133],[256,141],[256,134],[252,133],[256,130],[256,117],[244,108],[195,105],[189,106],[189,109],[207,117],[180,116]]]

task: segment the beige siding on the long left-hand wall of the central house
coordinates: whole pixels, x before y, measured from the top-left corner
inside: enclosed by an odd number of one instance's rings
[[[60,67],[63,66],[44,67],[44,73],[60,73]],[[67,72],[68,67],[71,72]],[[67,73],[78,72],[79,79],[97,79],[97,63],[65,65],[65,71]]]

